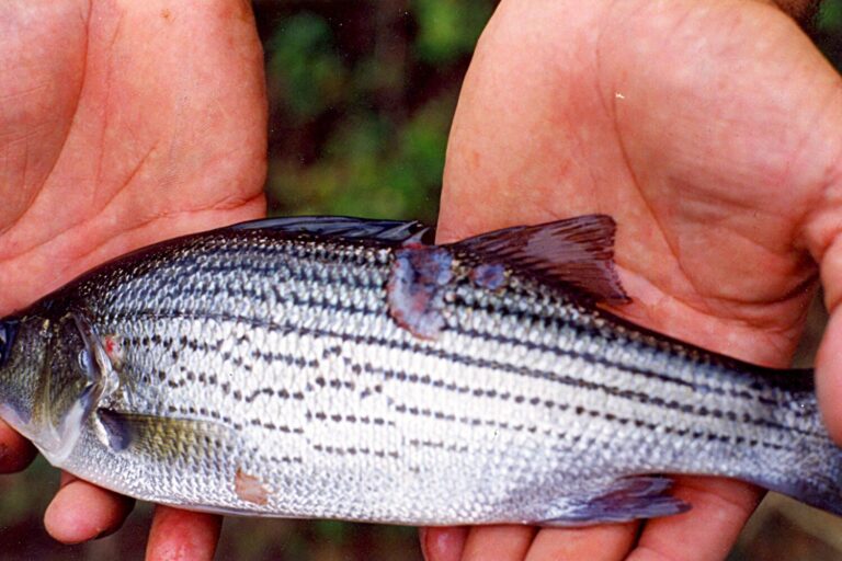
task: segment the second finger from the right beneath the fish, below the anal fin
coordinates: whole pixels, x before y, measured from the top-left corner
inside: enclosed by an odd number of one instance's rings
[[[635,542],[637,524],[590,528],[544,528],[532,541],[525,561],[621,561]]]

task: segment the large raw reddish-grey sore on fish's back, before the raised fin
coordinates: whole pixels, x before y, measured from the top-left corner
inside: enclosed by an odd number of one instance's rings
[[[387,286],[389,313],[422,339],[435,339],[444,327],[444,291],[453,273],[448,250],[417,242],[395,252]]]

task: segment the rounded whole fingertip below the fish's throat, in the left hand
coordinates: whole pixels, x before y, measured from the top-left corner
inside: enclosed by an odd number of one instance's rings
[[[61,489],[44,514],[44,526],[58,541],[79,543],[115,531],[134,504],[132,499],[62,473]]]

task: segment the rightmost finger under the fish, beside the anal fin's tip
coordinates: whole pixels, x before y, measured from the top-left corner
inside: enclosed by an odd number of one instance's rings
[[[649,520],[629,561],[715,561],[728,557],[763,496],[729,479],[676,478],[673,495],[693,505],[676,516]]]

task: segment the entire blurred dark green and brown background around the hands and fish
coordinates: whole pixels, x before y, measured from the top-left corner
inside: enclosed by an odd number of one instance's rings
[[[271,211],[419,218],[434,224],[447,130],[493,0],[259,0],[269,84]],[[842,0],[812,32],[842,68]],[[816,307],[801,350],[821,333]],[[0,450],[2,453],[2,450]],[[58,473],[37,460],[0,479],[0,558],[143,559],[151,508],[116,535],[61,547],[41,516]],[[417,560],[412,528],[229,518],[218,559]],[[842,559],[842,523],[770,496],[730,561]]]

